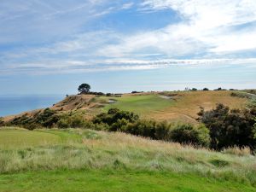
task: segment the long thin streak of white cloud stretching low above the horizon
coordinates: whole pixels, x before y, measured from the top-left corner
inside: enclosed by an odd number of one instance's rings
[[[129,60],[129,59],[109,59],[96,61],[75,61],[75,60],[44,60],[27,63],[13,63],[0,73],[88,73],[98,71],[117,70],[145,70],[166,67],[230,67],[244,66],[255,68],[256,59],[201,59],[201,60]]]

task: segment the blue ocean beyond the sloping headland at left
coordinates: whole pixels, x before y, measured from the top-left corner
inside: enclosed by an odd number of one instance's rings
[[[51,107],[65,96],[0,96],[0,117]]]

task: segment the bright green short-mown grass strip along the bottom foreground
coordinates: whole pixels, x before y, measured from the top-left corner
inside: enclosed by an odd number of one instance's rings
[[[0,176],[0,191],[225,192],[256,191],[241,183],[193,174],[124,170],[26,172]]]

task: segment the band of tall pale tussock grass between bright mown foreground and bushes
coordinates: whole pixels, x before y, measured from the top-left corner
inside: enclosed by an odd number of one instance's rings
[[[230,152],[236,149],[220,153],[120,132],[79,129],[45,132],[66,139],[29,148],[2,148],[0,173],[109,168],[193,173],[256,185],[256,158]]]

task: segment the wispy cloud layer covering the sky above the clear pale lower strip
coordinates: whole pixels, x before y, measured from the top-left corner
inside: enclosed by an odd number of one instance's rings
[[[0,74],[256,66],[254,0],[5,0],[0,9]],[[165,26],[134,20],[166,12]]]

